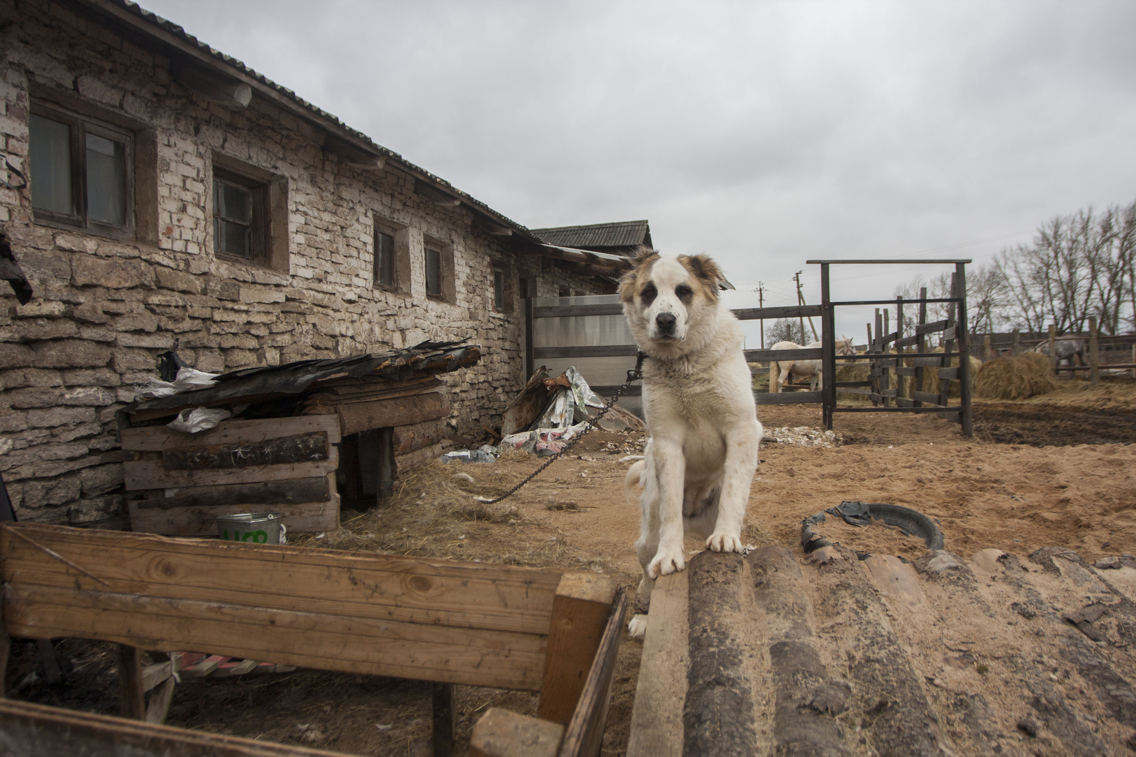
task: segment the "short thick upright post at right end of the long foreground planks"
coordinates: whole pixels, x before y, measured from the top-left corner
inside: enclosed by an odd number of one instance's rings
[[[598,573],[565,573],[557,586],[544,681],[536,715],[567,724],[579,701],[608,624],[616,582]]]

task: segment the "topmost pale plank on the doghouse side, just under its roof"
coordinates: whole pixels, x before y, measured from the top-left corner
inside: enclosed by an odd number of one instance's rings
[[[123,449],[161,452],[178,447],[199,447],[210,444],[260,444],[279,436],[324,431],[332,444],[340,441],[340,424],[321,415],[296,418],[265,418],[252,421],[222,421],[217,428],[198,434],[183,434],[166,426],[148,426],[122,430]]]

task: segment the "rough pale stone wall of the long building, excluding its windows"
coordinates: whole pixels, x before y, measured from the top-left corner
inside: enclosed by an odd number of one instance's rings
[[[114,414],[175,345],[189,364],[219,372],[473,339],[483,362],[449,377],[450,422],[465,430],[496,422],[520,386],[518,314],[492,311],[493,266],[540,296],[560,285],[603,291],[481,230],[468,209],[415,194],[395,167],[340,161],[314,126],[265,100],[226,107],[187,92],[167,58],[67,6],[0,3],[0,148],[14,165],[27,166],[33,101],[136,140],[133,241],[36,225],[30,191],[0,190],[0,229],[36,295],[19,305],[0,288],[0,471],[22,520],[122,512]],[[215,160],[286,184],[286,270],[214,254]],[[406,294],[371,285],[376,218],[408,232]],[[426,297],[424,237],[452,250],[452,304]]]

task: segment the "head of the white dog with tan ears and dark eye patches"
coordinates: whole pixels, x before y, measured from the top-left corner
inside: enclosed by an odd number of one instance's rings
[[[640,247],[635,268],[619,285],[619,300],[635,340],[649,354],[676,356],[696,350],[712,330],[721,271],[707,255],[660,255]]]

